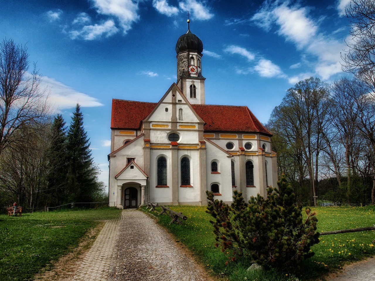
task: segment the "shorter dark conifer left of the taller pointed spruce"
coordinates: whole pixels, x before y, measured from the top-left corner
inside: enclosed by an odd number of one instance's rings
[[[47,203],[51,206],[66,203],[68,193],[68,155],[65,121],[61,114],[56,115],[51,125],[49,144]]]

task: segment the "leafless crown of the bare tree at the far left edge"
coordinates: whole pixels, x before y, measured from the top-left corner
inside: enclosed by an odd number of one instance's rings
[[[12,39],[0,43],[0,155],[7,146],[23,139],[18,130],[44,123],[47,116],[45,90],[40,89],[40,76],[34,64],[28,72],[26,46]]]

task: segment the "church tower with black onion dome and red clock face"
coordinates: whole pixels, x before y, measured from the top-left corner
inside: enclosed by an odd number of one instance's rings
[[[187,32],[181,35],[176,43],[177,53],[177,85],[190,104],[205,104],[204,78],[202,76],[202,51],[203,43],[189,27],[187,19]]]

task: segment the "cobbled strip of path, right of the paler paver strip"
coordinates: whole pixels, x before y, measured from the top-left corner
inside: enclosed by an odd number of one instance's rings
[[[211,278],[141,211],[123,211],[108,281],[205,281]]]

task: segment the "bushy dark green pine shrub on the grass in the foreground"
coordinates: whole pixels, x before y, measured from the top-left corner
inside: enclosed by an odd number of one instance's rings
[[[215,220],[210,222],[219,245],[231,260],[250,256],[265,268],[296,269],[298,264],[314,255],[311,246],[318,243],[319,233],[315,212],[295,205],[296,196],[285,175],[278,181],[279,190],[269,187],[267,198],[252,196],[246,203],[242,193],[234,191],[233,203],[213,199],[206,191],[207,213]]]

